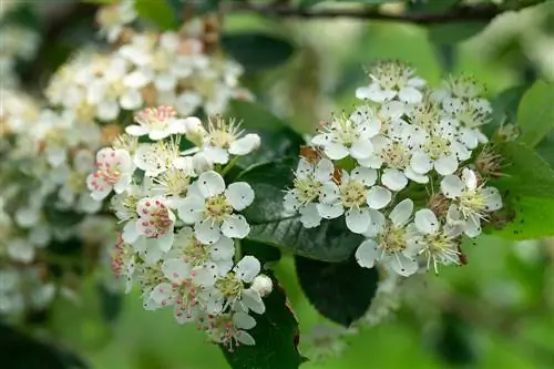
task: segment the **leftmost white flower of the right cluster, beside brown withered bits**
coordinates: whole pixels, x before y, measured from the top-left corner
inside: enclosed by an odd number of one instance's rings
[[[312,163],[300,157],[295,172],[294,187],[285,194],[285,212],[287,214],[299,212],[300,221],[307,228],[319,226],[321,216],[317,212],[315,202],[321,193],[324,183],[332,178],[334,171],[332,162],[327,158]]]

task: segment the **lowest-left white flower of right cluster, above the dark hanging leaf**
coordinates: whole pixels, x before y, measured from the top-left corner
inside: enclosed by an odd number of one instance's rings
[[[413,202],[406,198],[394,206],[387,221],[372,214],[372,221],[378,223],[378,236],[377,239],[366,239],[358,247],[356,250],[358,264],[372,268],[376,263],[382,263],[404,277],[418,271],[417,249],[411,232],[407,227],[412,212]]]

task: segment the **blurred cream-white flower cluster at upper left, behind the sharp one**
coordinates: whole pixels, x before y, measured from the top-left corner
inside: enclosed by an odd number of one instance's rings
[[[222,113],[233,98],[248,98],[238,84],[243,68],[208,54],[195,32],[134,31],[133,1],[102,8],[101,33],[119,40],[109,53],[81,50],[52,78],[47,96],[81,120],[112,122],[148,105],[172,105],[182,115]],[[129,114],[131,115],[131,114]]]

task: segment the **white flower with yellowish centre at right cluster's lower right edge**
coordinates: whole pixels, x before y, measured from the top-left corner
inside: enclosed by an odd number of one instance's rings
[[[463,168],[462,178],[447,175],[441,181],[441,192],[453,199],[447,219],[451,224],[460,224],[468,237],[481,234],[481,219],[486,218],[486,213],[502,207],[502,197],[495,187],[478,185],[475,173]]]

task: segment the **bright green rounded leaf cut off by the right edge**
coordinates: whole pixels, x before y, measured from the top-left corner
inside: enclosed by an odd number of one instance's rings
[[[532,147],[554,129],[554,83],[537,81],[525,92],[517,124],[522,131],[519,141]]]

